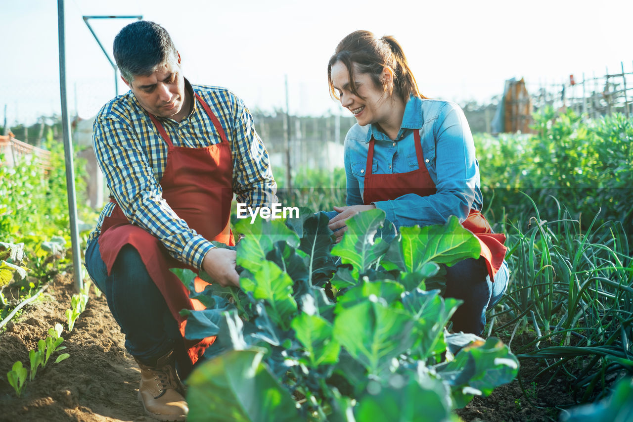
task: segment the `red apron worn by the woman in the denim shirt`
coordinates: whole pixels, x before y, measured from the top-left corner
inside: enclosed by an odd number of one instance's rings
[[[436,186],[429,175],[429,170],[424,163],[420,132],[413,131],[415,135],[415,153],[418,157],[418,169],[406,173],[372,174],[373,144],[369,141],[367,152],[367,168],[365,169],[365,190],[363,201],[369,205],[375,201],[394,200],[399,196],[415,193],[420,196],[429,196],[436,193]],[[499,271],[506,256],[507,248],[503,245],[506,241],[504,234],[492,233],[490,224],[477,210],[470,210],[468,217],[461,223],[468,231],[471,231],[481,245],[481,256],[486,260],[486,267],[491,281],[494,274]]]

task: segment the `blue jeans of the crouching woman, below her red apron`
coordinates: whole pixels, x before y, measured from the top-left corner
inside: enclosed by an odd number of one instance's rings
[[[468,258],[452,267],[446,267],[444,297],[464,301],[453,314],[453,331],[481,335],[486,326],[486,310],[498,304],[508,288],[510,271],[503,261],[491,282],[483,258]]]

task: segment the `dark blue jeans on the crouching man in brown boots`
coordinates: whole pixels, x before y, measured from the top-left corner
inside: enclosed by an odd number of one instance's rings
[[[191,362],[186,356],[178,324],[134,246],[123,246],[108,276],[99,242],[91,241],[85,250],[85,267],[106,296],[110,312],[125,334],[127,351],[138,361],[152,365],[174,350],[179,374],[186,378]]]

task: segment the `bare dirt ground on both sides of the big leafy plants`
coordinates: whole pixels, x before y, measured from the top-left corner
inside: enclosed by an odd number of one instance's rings
[[[68,333],[65,310],[73,293],[70,276],[58,276],[42,299],[0,333],[0,421],[154,421],[144,415],[137,401],[139,369],[125,352],[123,335],[103,295],[95,297],[91,288],[85,311]],[[56,323],[64,325],[62,345],[67,348],[63,352],[70,357],[56,364],[57,354],[53,355],[46,368],[37,371],[35,380],[27,381],[22,397],[16,397],[6,373],[18,360],[28,367],[28,350],[36,348],[37,341]],[[538,370],[537,362],[522,362],[524,376]],[[514,381],[497,388],[490,397],[473,400],[457,414],[464,421],[556,421],[558,409],[548,406],[567,404],[571,397],[561,382],[546,387],[546,380],[527,385],[530,400],[544,407],[532,406]]]

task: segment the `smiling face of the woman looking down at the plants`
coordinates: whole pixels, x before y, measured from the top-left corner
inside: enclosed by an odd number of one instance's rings
[[[372,77],[363,74],[354,63],[354,82],[356,83],[356,95],[351,91],[349,84],[348,68],[341,61],[332,65],[330,75],[334,84],[334,89],[339,94],[341,105],[347,108],[356,117],[356,121],[361,126],[370,123],[385,122],[389,120],[392,107],[389,101],[390,96],[382,91],[382,87],[374,84]],[[383,72],[381,79],[391,78],[388,70]]]

